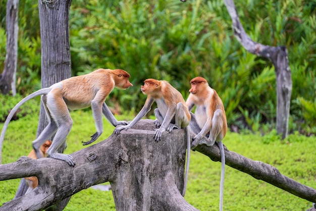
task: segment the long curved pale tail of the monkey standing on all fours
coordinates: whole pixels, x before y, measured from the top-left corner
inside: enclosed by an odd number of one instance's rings
[[[52,88],[51,87],[47,87],[47,88],[43,88],[40,89],[38,91],[35,91],[33,93],[31,93],[30,95],[24,97],[20,102],[18,102],[18,104],[15,105],[15,107],[11,110],[10,114],[8,115],[6,122],[4,124],[4,127],[2,128],[1,131],[1,136],[0,136],[0,164],[2,161],[2,145],[5,139],[5,134],[6,131],[8,129],[9,123],[12,119],[12,117],[14,116],[14,114],[18,111],[18,109],[21,107],[22,104],[24,104],[26,101],[38,96],[38,95],[42,95],[42,94],[47,94]]]

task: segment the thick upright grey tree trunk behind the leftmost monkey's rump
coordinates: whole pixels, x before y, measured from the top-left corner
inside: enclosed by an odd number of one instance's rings
[[[71,77],[69,10],[71,0],[38,0],[41,38],[41,85],[49,87]],[[40,108],[37,135],[47,125],[43,106]]]

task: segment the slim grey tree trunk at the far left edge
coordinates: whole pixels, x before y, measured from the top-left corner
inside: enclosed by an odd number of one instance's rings
[[[5,69],[0,75],[0,90],[2,94],[16,95],[16,72],[18,61],[18,12],[19,0],[8,0],[6,14],[7,54]]]

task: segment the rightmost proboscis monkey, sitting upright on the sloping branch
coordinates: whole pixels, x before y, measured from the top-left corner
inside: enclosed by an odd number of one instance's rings
[[[202,77],[193,78],[191,81],[190,94],[186,101],[189,111],[196,105],[195,114],[191,113],[189,129],[197,134],[192,142],[192,149],[195,148],[202,139],[203,142],[212,146],[215,141],[221,151],[222,173],[220,188],[220,210],[223,210],[223,191],[225,174],[225,152],[223,138],[227,131],[227,120],[222,99],[217,92],[208,86],[207,81]]]

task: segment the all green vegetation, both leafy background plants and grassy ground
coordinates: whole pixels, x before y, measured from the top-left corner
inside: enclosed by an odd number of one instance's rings
[[[188,96],[189,80],[205,77],[223,99],[228,123],[241,133],[228,133],[225,145],[253,160],[277,167],[281,173],[315,187],[316,134],[316,0],[235,1],[249,36],[266,45],[285,45],[289,53],[293,90],[290,132],[276,135],[274,66],[244,50],[233,36],[223,0],[107,1],[77,0],[70,12],[73,75],[97,68],[121,68],[134,87],[117,90],[107,103],[118,119],[131,120],[145,96],[139,86],[146,78],[164,79]],[[0,2],[0,71],[6,57],[6,1]],[[19,3],[19,48],[16,97],[0,96],[0,121],[22,96],[40,88],[40,33],[37,2]],[[18,121],[10,123],[3,163],[31,150],[36,134],[39,98],[23,105]],[[66,153],[83,148],[81,141],[95,130],[89,110],[71,113],[74,126]],[[0,128],[3,124],[0,124]],[[104,120],[98,141],[113,127]],[[250,129],[245,130],[245,128]],[[265,136],[261,136],[266,134]],[[17,147],[19,146],[19,147]],[[192,152],[186,200],[201,210],[217,210],[220,163]],[[0,205],[11,200],[19,180],[0,182]],[[227,167],[225,210],[306,210],[311,203],[270,184]],[[83,207],[82,207],[83,206]],[[70,200],[66,210],[115,210],[111,191],[91,188]]]

